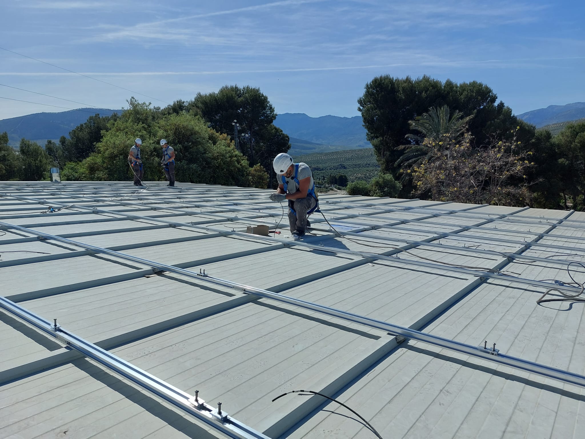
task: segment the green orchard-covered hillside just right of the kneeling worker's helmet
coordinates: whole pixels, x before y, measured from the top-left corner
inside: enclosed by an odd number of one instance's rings
[[[294,157],[295,162],[301,161]],[[327,153],[302,155],[316,180],[326,179],[329,174],[346,174],[349,181],[369,181],[380,172],[373,148],[350,149]]]

